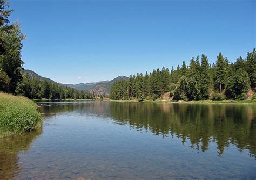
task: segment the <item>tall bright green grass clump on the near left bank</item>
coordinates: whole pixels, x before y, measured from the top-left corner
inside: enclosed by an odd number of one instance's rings
[[[37,105],[23,96],[0,92],[0,136],[28,132],[42,125]]]

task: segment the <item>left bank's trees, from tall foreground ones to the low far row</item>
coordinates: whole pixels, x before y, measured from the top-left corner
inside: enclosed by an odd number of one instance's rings
[[[22,41],[25,35],[17,22],[10,24],[8,18],[13,10],[9,3],[0,0],[0,91],[35,99],[93,99],[89,92],[61,87],[56,82],[41,81],[22,73]]]

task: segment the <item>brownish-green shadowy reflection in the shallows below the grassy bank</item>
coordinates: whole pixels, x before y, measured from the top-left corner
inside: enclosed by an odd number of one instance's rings
[[[18,162],[18,153],[28,151],[41,134],[42,129],[38,128],[29,133],[0,138],[0,179],[12,179],[23,171],[22,162]]]

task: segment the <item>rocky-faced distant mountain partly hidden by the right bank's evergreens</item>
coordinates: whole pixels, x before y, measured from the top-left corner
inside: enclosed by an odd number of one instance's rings
[[[97,96],[99,95],[109,96],[112,84],[114,82],[119,80],[128,80],[128,79],[129,77],[126,77],[126,76],[118,76],[111,81],[98,83],[94,87],[90,88],[88,91]]]

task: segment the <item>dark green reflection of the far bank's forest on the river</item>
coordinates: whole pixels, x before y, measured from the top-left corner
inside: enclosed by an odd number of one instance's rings
[[[154,135],[176,136],[202,152],[215,142],[219,156],[230,144],[248,149],[254,158],[256,154],[255,105],[80,102],[41,106],[45,116],[71,111],[110,117],[117,124],[129,124]]]

